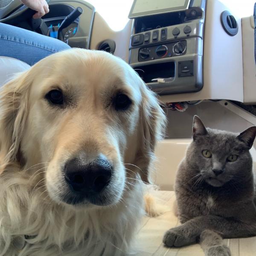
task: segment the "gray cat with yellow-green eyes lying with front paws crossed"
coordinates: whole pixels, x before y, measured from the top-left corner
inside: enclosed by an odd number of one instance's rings
[[[207,256],[230,256],[223,238],[256,236],[256,196],[249,149],[256,127],[241,134],[205,128],[194,117],[193,141],[180,163],[175,193],[180,226],[163,242],[199,242]]]

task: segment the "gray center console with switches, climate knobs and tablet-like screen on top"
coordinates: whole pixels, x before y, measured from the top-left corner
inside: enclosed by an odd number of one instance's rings
[[[129,64],[159,94],[203,87],[205,0],[134,0]]]

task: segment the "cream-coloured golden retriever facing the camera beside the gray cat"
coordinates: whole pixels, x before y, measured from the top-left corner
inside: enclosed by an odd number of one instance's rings
[[[0,111],[0,256],[129,254],[166,121],[137,73],[58,52],[2,88]]]

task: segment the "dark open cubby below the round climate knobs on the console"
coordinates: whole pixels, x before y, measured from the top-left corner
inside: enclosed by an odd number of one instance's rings
[[[164,62],[144,65],[134,69],[145,83],[151,83],[152,79],[175,77],[175,62]]]

